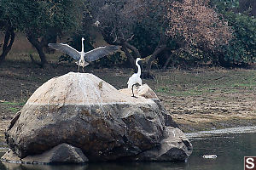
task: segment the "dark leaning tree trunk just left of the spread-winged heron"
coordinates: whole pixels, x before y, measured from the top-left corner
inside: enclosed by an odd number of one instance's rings
[[[32,43],[32,46],[34,46],[38,51],[39,57],[41,59],[41,62],[38,65],[44,67],[44,65],[47,64],[47,60],[44,54],[44,38],[42,39],[42,42],[39,42],[38,38],[33,37],[32,35],[27,35],[27,39],[29,42]]]

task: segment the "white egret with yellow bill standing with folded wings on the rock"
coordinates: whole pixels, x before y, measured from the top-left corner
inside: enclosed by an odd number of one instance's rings
[[[143,60],[141,58],[137,58],[136,59],[136,62],[135,64],[137,65],[137,73],[134,73],[128,80],[127,84],[128,84],[128,88],[131,89],[131,92],[132,92],[132,96],[131,97],[134,97],[136,98],[136,96],[134,95],[133,93],[133,87],[138,83],[139,85],[143,85],[143,81],[141,79],[141,74],[142,74],[142,71],[141,71],[141,66],[138,64],[138,62],[140,60]]]

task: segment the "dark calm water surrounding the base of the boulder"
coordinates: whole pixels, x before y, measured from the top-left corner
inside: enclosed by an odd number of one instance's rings
[[[235,132],[235,133],[234,133]],[[74,165],[20,165],[0,163],[1,170],[240,170],[243,156],[256,156],[256,127],[188,133],[194,150],[186,162],[108,162]],[[1,146],[0,146],[1,147]],[[216,159],[203,155],[215,154]],[[3,151],[0,150],[0,156]]]

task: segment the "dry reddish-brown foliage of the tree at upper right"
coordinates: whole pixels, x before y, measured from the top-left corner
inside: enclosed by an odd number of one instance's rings
[[[220,20],[218,14],[208,7],[208,1],[184,0],[170,4],[167,18],[170,28],[167,33],[184,40],[188,46],[204,50],[218,50],[231,38],[227,22]]]

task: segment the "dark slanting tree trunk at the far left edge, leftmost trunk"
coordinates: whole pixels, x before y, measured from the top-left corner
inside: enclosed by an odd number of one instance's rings
[[[3,52],[0,55],[0,65],[3,63],[3,60],[5,59],[6,55],[11,50],[14,42],[15,42],[15,31],[12,27],[8,26],[5,31],[5,37],[3,42]]]

